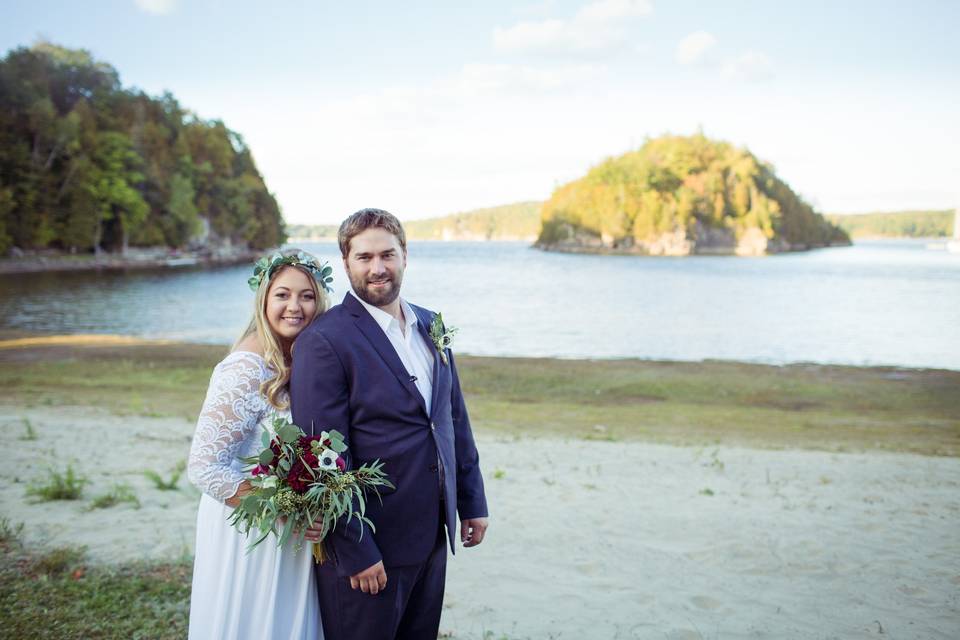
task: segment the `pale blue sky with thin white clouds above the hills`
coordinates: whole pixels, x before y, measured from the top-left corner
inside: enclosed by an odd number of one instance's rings
[[[13,0],[0,52],[89,50],[252,149],[289,223],[522,200],[663,134],[822,212],[960,206],[960,1]]]

